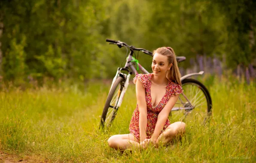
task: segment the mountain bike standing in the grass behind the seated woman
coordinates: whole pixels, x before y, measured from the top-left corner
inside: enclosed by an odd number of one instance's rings
[[[122,104],[125,92],[129,85],[129,80],[132,74],[137,75],[137,70],[145,74],[149,72],[138,63],[138,60],[133,57],[135,51],[142,51],[145,54],[152,56],[152,52],[143,48],[135,48],[127,45],[125,42],[106,39],[110,44],[117,45],[119,48],[125,47],[130,49],[129,55],[126,58],[124,67],[118,67],[116,75],[113,78],[107,100],[101,115],[100,129],[108,128],[113,123],[117,111]],[[176,57],[180,63],[186,60],[186,57]],[[137,69],[136,69],[136,68]],[[125,73],[126,72],[126,73]],[[198,80],[189,78],[194,75],[202,75],[204,72],[190,73],[180,78],[183,88],[182,96],[179,96],[177,103],[171,109],[170,116],[174,121],[189,121],[200,124],[210,118],[212,109],[212,100],[207,88]],[[174,112],[175,111],[175,112]]]

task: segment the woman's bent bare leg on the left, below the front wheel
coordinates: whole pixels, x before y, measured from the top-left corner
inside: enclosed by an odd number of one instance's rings
[[[125,149],[141,148],[139,140],[130,133],[113,135],[108,139],[107,142],[111,148],[119,149],[122,151]]]

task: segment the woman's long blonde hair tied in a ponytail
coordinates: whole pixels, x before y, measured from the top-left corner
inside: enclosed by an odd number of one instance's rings
[[[168,70],[166,77],[168,80],[173,81],[181,86],[181,81],[180,81],[180,71],[178,67],[178,63],[176,60],[176,55],[174,53],[174,50],[170,47],[162,47],[162,48],[157,48],[156,50],[153,51],[153,55],[155,53],[162,54],[168,57],[168,63],[173,64],[171,66],[171,69]]]

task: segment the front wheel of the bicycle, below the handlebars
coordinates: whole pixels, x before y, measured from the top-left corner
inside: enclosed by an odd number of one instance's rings
[[[110,127],[113,120],[115,119],[116,112],[118,110],[117,103],[122,93],[123,86],[124,78],[118,76],[107,96],[107,100],[101,115],[100,129],[104,127]]]

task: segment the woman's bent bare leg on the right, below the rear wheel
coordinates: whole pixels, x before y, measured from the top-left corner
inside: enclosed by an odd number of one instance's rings
[[[185,130],[186,124],[184,122],[178,121],[170,124],[164,132],[162,132],[157,140],[156,140],[156,147],[159,145],[166,145],[176,137],[181,138],[181,136],[186,133]]]

